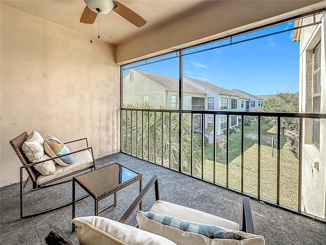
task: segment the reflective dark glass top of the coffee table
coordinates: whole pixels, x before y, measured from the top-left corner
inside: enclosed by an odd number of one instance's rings
[[[118,164],[114,163],[96,170],[90,171],[84,175],[74,177],[77,183],[86,185],[95,194],[101,194],[128,180],[139,176],[140,174]]]

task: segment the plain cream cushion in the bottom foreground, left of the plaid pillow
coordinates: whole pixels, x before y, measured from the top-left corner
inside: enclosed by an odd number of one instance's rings
[[[176,245],[165,237],[101,216],[77,217],[72,222],[80,245]]]

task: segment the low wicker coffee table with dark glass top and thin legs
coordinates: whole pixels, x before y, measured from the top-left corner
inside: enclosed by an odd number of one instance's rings
[[[95,201],[95,215],[105,211],[108,208],[117,206],[117,191],[131,185],[134,182],[140,182],[139,191],[143,189],[142,175],[120,165],[113,163],[105,167],[98,168],[88,173],[73,177],[72,180],[72,218],[75,217],[75,183],[78,183]],[[98,211],[98,202],[109,195],[114,194],[114,203],[100,211]],[[140,210],[142,203],[140,204]],[[74,232],[75,226],[72,225]]]

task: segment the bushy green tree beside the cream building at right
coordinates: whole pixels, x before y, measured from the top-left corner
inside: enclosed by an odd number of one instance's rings
[[[278,92],[275,97],[264,101],[263,107],[258,107],[256,111],[260,112],[298,112],[299,111],[299,93]],[[271,126],[277,125],[277,117],[264,117],[264,120]],[[281,117],[281,133],[285,130],[296,131],[298,129],[298,120],[293,117]]]

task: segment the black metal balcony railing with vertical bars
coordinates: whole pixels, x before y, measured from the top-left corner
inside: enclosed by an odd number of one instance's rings
[[[197,115],[196,121],[194,115]],[[201,120],[198,123],[198,115],[201,115]],[[237,125],[235,129],[230,127],[230,116],[238,116],[242,123]],[[213,129],[211,132],[205,129],[206,117],[213,117]],[[223,136],[226,139],[225,155],[222,160],[221,151],[216,149],[221,148],[220,137],[218,130],[220,127],[219,116],[226,116],[226,130]],[[265,118],[275,118],[276,126],[272,142],[274,143],[274,136],[276,138],[276,156],[274,156],[274,145],[270,146],[273,154],[273,161],[276,163],[273,169],[275,175],[275,186],[272,186],[268,191],[273,192],[273,195],[266,195],[266,188],[264,184],[266,179],[262,176],[267,176],[268,169],[264,170],[262,165],[263,159],[262,151],[266,151],[265,142],[262,143],[262,128],[266,127],[262,123]],[[179,123],[182,118],[181,124]],[[257,134],[257,150],[255,148],[254,164],[247,166],[246,154],[246,130],[245,126],[248,118],[255,121]],[[298,122],[297,137],[298,142],[295,147],[298,151],[297,161],[292,165],[295,176],[294,187],[284,190],[284,183],[281,181],[281,151],[284,146],[284,137],[281,134],[281,119],[282,118],[296,118]],[[161,166],[179,171],[188,176],[198,178],[200,180],[218,185],[229,190],[242,193],[248,197],[264,201],[265,203],[276,205],[280,208],[289,210],[295,213],[301,213],[305,216],[313,217],[325,222],[324,218],[314,216],[313,214],[304,212],[302,210],[302,146],[303,146],[303,122],[305,118],[321,118],[326,119],[326,114],[313,113],[269,113],[269,112],[230,112],[230,111],[191,111],[191,110],[158,110],[158,109],[135,109],[122,108],[121,109],[121,151],[134,157],[138,157],[149,162],[159,164]],[[196,125],[197,124],[197,125]],[[198,125],[200,124],[200,125]],[[182,128],[181,134],[179,129]],[[195,130],[200,129],[200,130]],[[232,132],[234,130],[240,131],[240,146],[235,143]],[[232,131],[232,132],[231,132]],[[212,135],[211,135],[212,134]],[[272,134],[272,133],[269,133]],[[181,140],[179,139],[181,135]],[[232,141],[234,140],[234,142]],[[181,143],[180,143],[181,141]],[[256,141],[255,141],[256,142]],[[256,144],[255,144],[256,147]],[[209,150],[210,149],[210,150]],[[222,149],[222,148],[221,148]],[[209,153],[208,153],[209,150]],[[230,155],[232,151],[238,153],[238,157]],[[212,152],[212,154],[210,154]],[[220,154],[220,155],[219,155]],[[209,155],[209,156],[207,156]],[[235,154],[236,155],[236,154]],[[208,159],[210,158],[210,159]],[[181,162],[179,161],[181,159]],[[208,160],[207,160],[208,159]],[[222,159],[222,158],[221,158]],[[257,161],[257,162],[255,162]],[[286,159],[282,160],[283,162]],[[236,162],[236,163],[234,163]],[[266,162],[266,161],[264,161]],[[208,164],[209,163],[209,164]],[[234,166],[240,169],[240,173],[234,173]],[[208,169],[208,170],[207,170]],[[267,171],[267,174],[266,174]],[[276,173],[275,173],[276,172]],[[295,173],[296,172],[296,173]],[[234,178],[238,175],[238,178]],[[222,178],[222,177],[223,178]],[[253,178],[254,181],[246,181],[248,178]],[[239,180],[239,183],[234,183],[234,180]],[[253,182],[253,183],[252,183]],[[250,188],[248,187],[250,185]],[[254,187],[253,187],[254,186]],[[250,189],[250,191],[248,191]],[[286,192],[295,190],[292,197],[289,199],[293,204],[288,204],[287,201],[281,200],[281,194],[286,195]],[[282,192],[282,193],[281,193]]]

